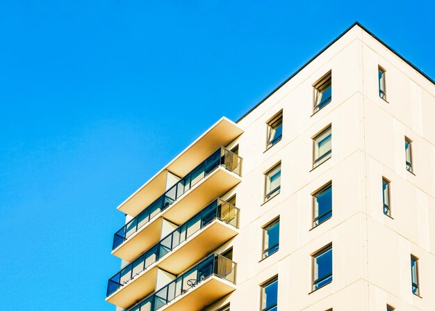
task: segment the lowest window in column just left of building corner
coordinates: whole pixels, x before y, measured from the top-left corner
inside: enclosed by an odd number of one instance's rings
[[[322,248],[313,257],[313,290],[332,282],[332,244]]]

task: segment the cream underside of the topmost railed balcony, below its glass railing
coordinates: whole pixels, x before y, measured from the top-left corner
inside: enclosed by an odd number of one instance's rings
[[[151,222],[132,234],[123,244],[115,248],[112,254],[131,262],[161,239],[162,217],[181,225],[213,199],[236,186],[240,180],[241,177],[235,173],[222,167],[217,168]]]

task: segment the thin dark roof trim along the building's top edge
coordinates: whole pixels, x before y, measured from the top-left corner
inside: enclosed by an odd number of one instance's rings
[[[426,79],[428,79],[430,82],[432,82],[432,84],[435,85],[435,81],[434,79],[432,79],[431,77],[429,77],[427,74],[425,74],[425,72],[422,72],[422,70],[418,69],[418,67],[416,67],[416,65],[413,65],[413,63],[411,63],[410,61],[408,61],[406,58],[404,58],[402,55],[400,55],[399,53],[397,53],[397,51],[395,51],[393,48],[391,48],[389,45],[387,45],[384,41],[382,41],[381,39],[379,39],[375,34],[373,34],[371,31],[369,31],[366,27],[364,27],[363,25],[361,25],[359,22],[354,22],[354,24],[352,24],[348,29],[346,29],[345,31],[343,31],[343,33],[341,33],[340,35],[338,35],[337,38],[335,38],[331,43],[329,43],[329,45],[327,45],[326,47],[324,47],[320,52],[318,52],[318,54],[315,54],[315,56],[313,56],[313,58],[311,58],[308,62],[305,63],[305,65],[303,65],[302,67],[300,67],[298,70],[296,70],[296,72],[294,74],[292,74],[290,77],[288,77],[286,79],[286,81],[284,81],[283,83],[279,84],[279,86],[277,86],[277,88],[275,88],[274,90],[272,90],[272,92],[267,95],[266,97],[264,97],[263,99],[261,99],[261,102],[258,102],[258,104],[256,104],[254,107],[252,107],[252,109],[249,109],[249,111],[247,113],[245,113],[240,119],[238,119],[236,121],[236,123],[240,122],[243,118],[245,118],[249,113],[251,113],[252,111],[254,111],[254,109],[256,109],[256,107],[260,106],[261,104],[263,104],[263,102],[265,102],[266,99],[268,99],[270,96],[273,95],[273,93],[275,93],[277,90],[279,90],[279,88],[281,88],[281,86],[284,86],[284,84],[286,84],[290,79],[292,79],[293,77],[295,77],[296,74],[298,74],[299,72],[301,72],[307,65],[309,65],[309,63],[311,63],[312,61],[315,60],[315,58],[317,58],[320,54],[322,54],[326,49],[328,49],[329,47],[331,47],[331,45],[333,45],[337,40],[339,40],[341,37],[343,37],[343,35],[345,35],[347,33],[347,31],[350,31],[350,29],[354,28],[354,26],[358,25],[359,27],[361,27],[361,29],[363,29],[364,31],[366,31],[366,33],[368,33],[369,35],[371,35],[373,38],[375,38],[376,40],[378,40],[381,45],[384,45],[384,47],[386,47],[387,49],[389,49],[390,51],[392,51],[395,55],[399,56],[400,59],[402,59],[402,61],[404,61],[405,63],[407,63],[408,65],[410,65],[411,67],[413,67],[413,69],[415,69],[417,72],[419,72],[423,77],[425,77]]]

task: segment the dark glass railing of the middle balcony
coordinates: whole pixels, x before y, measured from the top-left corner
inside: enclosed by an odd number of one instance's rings
[[[125,266],[120,272],[108,280],[107,296],[116,292],[120,287],[133,280],[142,271],[145,271],[151,264],[157,262],[161,257],[170,253],[174,248],[186,241],[192,234],[195,234],[209,223],[218,219],[224,223],[238,228],[239,209],[229,202],[217,198],[201,212],[190,218],[186,223],[172,231],[152,246],[136,260]]]

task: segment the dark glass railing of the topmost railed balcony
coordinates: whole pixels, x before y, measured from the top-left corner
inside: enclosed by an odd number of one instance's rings
[[[137,232],[145,224],[149,223],[152,218],[167,209],[167,207],[172,205],[173,202],[190,190],[192,186],[195,186],[195,184],[203,180],[207,175],[210,175],[218,167],[226,168],[240,176],[242,170],[242,158],[224,147],[219,147],[219,149],[213,152],[213,154],[203,161],[202,164],[199,164],[199,166],[188,173],[186,177],[179,180],[177,184],[174,184],[174,186],[163,193],[162,196],[152,202],[151,205],[118,230],[115,233],[115,237],[113,237],[113,249],[123,244],[131,234]]]

